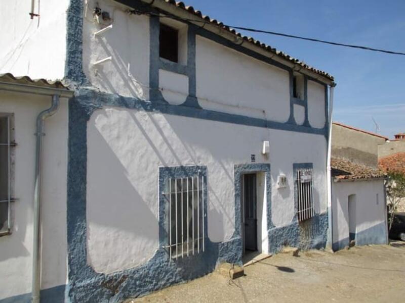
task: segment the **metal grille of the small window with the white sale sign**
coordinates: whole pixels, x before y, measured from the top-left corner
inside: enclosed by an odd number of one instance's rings
[[[305,221],[314,216],[313,209],[313,170],[297,170],[297,215],[298,221]]]

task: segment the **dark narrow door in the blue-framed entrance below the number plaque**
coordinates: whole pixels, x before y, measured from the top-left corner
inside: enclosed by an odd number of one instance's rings
[[[245,249],[257,250],[256,174],[244,175]]]

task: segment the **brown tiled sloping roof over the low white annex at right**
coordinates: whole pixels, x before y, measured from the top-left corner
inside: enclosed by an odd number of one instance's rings
[[[354,163],[342,158],[332,158],[331,167],[332,176],[337,180],[374,179],[385,176],[385,173],[378,169]]]

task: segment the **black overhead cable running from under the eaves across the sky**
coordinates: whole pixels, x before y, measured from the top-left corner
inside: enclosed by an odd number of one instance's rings
[[[144,14],[144,15],[149,15],[149,16],[153,15],[153,16],[158,16],[158,17],[166,17],[166,18],[176,19],[179,21],[198,22],[198,23],[203,23],[204,25],[211,24],[210,22],[205,21],[205,20],[194,20],[194,19],[181,18],[181,17],[175,16],[173,14],[167,14],[167,13],[164,13],[163,16],[162,16],[162,14],[158,14],[155,12],[143,12],[143,11],[137,11],[137,10],[133,10],[133,11],[131,11],[131,13],[139,14],[139,15]],[[320,39],[315,39],[315,38],[308,38],[308,37],[278,33],[278,32],[273,32],[273,31],[268,31],[268,30],[255,29],[255,28],[250,28],[250,27],[241,27],[241,26],[232,26],[232,25],[226,25],[226,26],[233,28],[233,29],[245,30],[245,31],[249,31],[249,32],[276,35],[276,36],[287,37],[287,38],[294,38],[294,39],[300,39],[300,40],[306,40],[306,41],[312,41],[312,42],[318,42],[318,43],[325,43],[325,44],[329,44],[329,45],[337,45],[337,46],[343,46],[343,47],[364,49],[366,51],[379,52],[379,53],[390,54],[390,55],[405,56],[405,53],[388,51],[387,49],[347,44],[347,43],[332,42],[332,41],[320,40]]]

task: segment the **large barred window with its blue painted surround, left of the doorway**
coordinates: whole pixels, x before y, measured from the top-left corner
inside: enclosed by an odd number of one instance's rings
[[[205,251],[207,167],[159,168],[160,244],[171,258]]]

